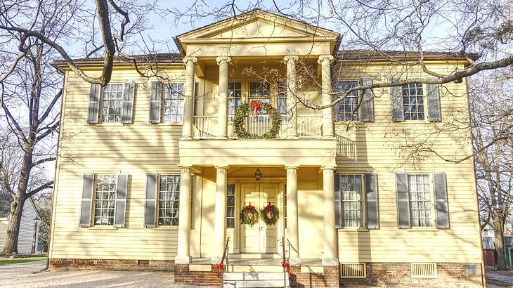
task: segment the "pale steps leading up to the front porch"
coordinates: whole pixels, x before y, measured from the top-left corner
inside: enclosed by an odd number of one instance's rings
[[[290,287],[284,273],[238,272],[224,273],[223,277],[223,287]]]

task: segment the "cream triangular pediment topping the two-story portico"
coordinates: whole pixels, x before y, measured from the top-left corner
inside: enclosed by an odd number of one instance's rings
[[[249,11],[179,35],[179,41],[190,39],[248,39],[324,37],[336,39],[336,32],[308,25],[266,11]]]

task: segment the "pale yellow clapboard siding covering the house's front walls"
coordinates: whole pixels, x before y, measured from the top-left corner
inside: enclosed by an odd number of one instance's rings
[[[435,72],[448,73],[455,66],[432,63]],[[218,67],[205,68],[205,81],[200,81],[197,101],[200,114],[215,115],[217,111],[217,79],[212,77]],[[230,68],[232,75],[242,75],[243,67]],[[344,66],[341,79],[372,78],[374,83],[389,81],[403,67],[384,64],[365,67]],[[98,71],[90,71],[99,74]],[[176,81],[183,81],[183,70],[169,69]],[[212,74],[214,73],[214,74]],[[408,77],[428,77],[418,68],[410,68]],[[116,69],[111,83],[136,82],[134,124],[86,123],[89,84],[72,72],[65,77],[60,156],[57,162],[56,195],[53,207],[51,258],[119,258],[169,260],[176,254],[177,230],[143,228],[146,173],[179,173],[179,124],[150,124],[150,80],[130,70]],[[243,84],[245,89],[246,84]],[[451,93],[441,89],[442,122],[392,122],[389,89],[374,91],[375,122],[356,124],[347,131],[346,124],[335,124],[337,134],[337,171],[341,173],[376,173],[379,187],[379,229],[338,230],[339,259],[344,263],[380,262],[468,262],[481,261],[476,191],[472,160],[450,164],[436,157],[422,163],[405,162],[400,145],[427,139],[444,157],[462,157],[472,151],[467,127],[459,131],[443,131],[449,124],[468,121],[465,81],[445,84]],[[425,89],[425,87],[424,87]],[[308,93],[319,100],[318,93]],[[301,113],[319,113],[300,107]],[[426,114],[427,115],[427,114]],[[464,124],[462,124],[464,126]],[[429,136],[429,137],[427,137]],[[251,148],[248,149],[265,149]],[[396,191],[394,172],[445,172],[448,181],[450,229],[399,230],[396,222]],[[210,179],[197,187],[215,189],[214,170]],[[79,228],[79,205],[82,195],[82,174],[129,174],[126,199],[125,228]],[[301,173],[301,169],[300,169]],[[317,172],[316,172],[317,173]],[[322,174],[321,174],[322,175]],[[206,176],[205,176],[206,177]],[[201,182],[203,181],[203,183]],[[215,180],[214,180],[215,181]],[[202,184],[201,184],[202,183]],[[299,179],[300,256],[320,257],[322,231],[322,177]],[[191,253],[208,256],[212,249],[213,197],[200,193],[193,199]],[[433,215],[434,216],[434,215]],[[235,244],[236,245],[236,244]]]

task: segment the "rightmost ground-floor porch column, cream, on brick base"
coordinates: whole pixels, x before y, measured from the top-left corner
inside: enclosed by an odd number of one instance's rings
[[[323,266],[337,266],[337,230],[335,230],[335,167],[323,166],[324,249]]]

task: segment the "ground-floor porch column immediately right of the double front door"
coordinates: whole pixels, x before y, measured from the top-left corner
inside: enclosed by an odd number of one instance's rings
[[[297,166],[285,166],[287,169],[287,240],[285,247],[290,248],[289,264],[301,265],[299,258],[299,230],[297,228]],[[290,244],[290,245],[289,245]]]

